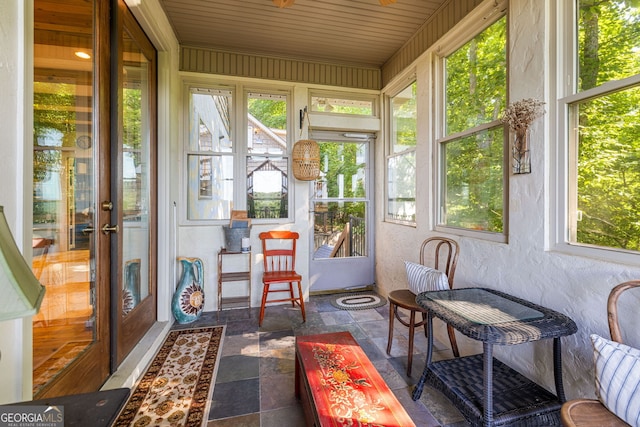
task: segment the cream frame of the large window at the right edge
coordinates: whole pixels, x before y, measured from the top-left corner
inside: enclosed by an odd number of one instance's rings
[[[555,55],[550,58],[551,70],[556,70],[551,88],[555,90],[556,105],[550,105],[550,127],[556,129],[556,146],[551,164],[555,186],[550,203],[549,249],[552,251],[625,264],[637,264],[640,251],[596,246],[571,241],[571,231],[577,221],[577,162],[578,133],[571,115],[574,104],[606,96],[624,88],[640,85],[640,74],[620,80],[609,80],[594,88],[578,92],[578,14],[577,0],[558,2],[555,24]],[[550,73],[551,75],[551,73]],[[552,97],[553,99],[553,97]]]

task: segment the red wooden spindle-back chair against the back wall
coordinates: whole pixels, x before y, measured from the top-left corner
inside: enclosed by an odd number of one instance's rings
[[[300,235],[293,231],[265,231],[260,233],[264,273],[262,274],[262,304],[260,305],[259,326],[262,326],[264,309],[268,302],[291,302],[291,306],[300,306],[302,321],[307,318],[304,312],[304,296],[302,294],[302,276],[296,272],[296,242]],[[298,284],[298,296],[295,296],[293,284]],[[271,285],[287,284],[287,288]],[[268,299],[269,293],[288,292],[287,298]]]

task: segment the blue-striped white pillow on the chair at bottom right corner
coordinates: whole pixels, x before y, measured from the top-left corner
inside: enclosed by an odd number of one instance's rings
[[[591,335],[600,402],[632,426],[640,426],[640,350]]]

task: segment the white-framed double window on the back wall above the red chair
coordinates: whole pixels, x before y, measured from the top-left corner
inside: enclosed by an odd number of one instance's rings
[[[289,217],[289,94],[245,91],[242,103],[236,93],[240,86],[189,90],[190,221],[229,219],[234,209],[256,219]]]

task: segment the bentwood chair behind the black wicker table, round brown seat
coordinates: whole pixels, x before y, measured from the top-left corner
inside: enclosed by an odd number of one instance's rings
[[[456,272],[456,265],[458,263],[458,254],[460,247],[455,240],[447,239],[446,237],[431,237],[422,242],[420,246],[420,264],[425,264],[425,255],[427,252],[433,251],[433,265],[432,267],[442,271],[447,275],[449,280],[449,288],[453,289],[453,276]],[[391,353],[391,345],[393,343],[393,323],[394,319],[404,326],[409,328],[409,349],[407,354],[407,376],[411,376],[411,364],[413,361],[413,337],[415,334],[415,328],[420,326],[424,327],[424,334],[427,336],[427,312],[416,303],[416,294],[409,289],[399,289],[391,291],[389,297],[389,338],[387,342],[387,354]],[[398,313],[398,307],[409,311],[409,322],[406,322],[400,317]],[[416,313],[422,315],[422,321],[416,323]],[[458,344],[456,343],[456,336],[453,326],[447,325],[447,331],[449,333],[449,341],[451,342],[451,349],[454,356],[458,357]]]

